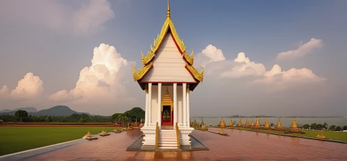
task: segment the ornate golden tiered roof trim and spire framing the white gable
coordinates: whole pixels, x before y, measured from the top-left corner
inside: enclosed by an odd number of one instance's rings
[[[155,58],[155,53],[158,51],[160,44],[162,44],[162,41],[164,40],[165,35],[167,33],[171,33],[171,36],[173,37],[173,40],[178,48],[178,51],[180,51],[180,54],[182,54],[182,57],[184,58],[186,64],[185,68],[189,71],[189,73],[194,77],[196,80],[196,85],[199,82],[203,81],[203,67],[201,67],[201,71],[199,72],[198,69],[193,67],[194,62],[194,51],[189,54],[186,51],[186,46],[183,43],[183,40],[180,40],[180,37],[178,36],[178,33],[176,32],[176,28],[174,26],[174,23],[171,21],[171,14],[170,14],[170,6],[169,3],[167,5],[167,19],[165,19],[164,24],[162,25],[162,30],[158,34],[157,38],[153,42],[153,46],[151,45],[151,51],[147,53],[147,56],[144,56],[141,51],[142,55],[142,65],[138,71],[135,71],[135,65],[133,67],[133,78],[135,81],[139,83],[139,85],[142,87],[142,90],[145,89],[144,85],[140,83],[142,78],[153,68],[153,62],[152,60]],[[191,88],[193,90],[194,87]]]

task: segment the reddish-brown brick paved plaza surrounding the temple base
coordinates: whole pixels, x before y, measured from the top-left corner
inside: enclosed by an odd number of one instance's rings
[[[219,128],[210,128],[219,131]],[[209,151],[126,151],[139,129],[112,133],[27,160],[346,160],[347,144],[225,129],[228,137],[194,130]]]

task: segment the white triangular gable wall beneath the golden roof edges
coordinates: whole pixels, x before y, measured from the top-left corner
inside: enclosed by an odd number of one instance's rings
[[[185,69],[185,60],[170,33],[164,37],[152,62],[153,68],[142,78],[141,82],[196,82]]]

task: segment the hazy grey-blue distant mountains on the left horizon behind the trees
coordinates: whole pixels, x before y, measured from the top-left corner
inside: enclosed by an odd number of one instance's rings
[[[29,112],[29,111],[33,111],[33,109],[35,109],[35,112]],[[37,112],[36,108],[18,108],[16,110],[2,110],[5,112],[0,112],[0,115],[15,115],[15,112],[17,110],[26,110],[26,112],[28,112],[28,115],[33,115],[33,116],[70,116],[72,114],[87,114],[87,115],[91,115],[88,112],[76,112],[74,110],[71,110],[69,107],[67,107],[66,105],[56,105],[53,108],[49,108],[46,110],[40,110]],[[6,112],[8,111],[8,112]]]

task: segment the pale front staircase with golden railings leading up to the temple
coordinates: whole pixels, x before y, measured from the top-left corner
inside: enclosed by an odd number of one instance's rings
[[[176,130],[159,130],[158,149],[178,149]]]

